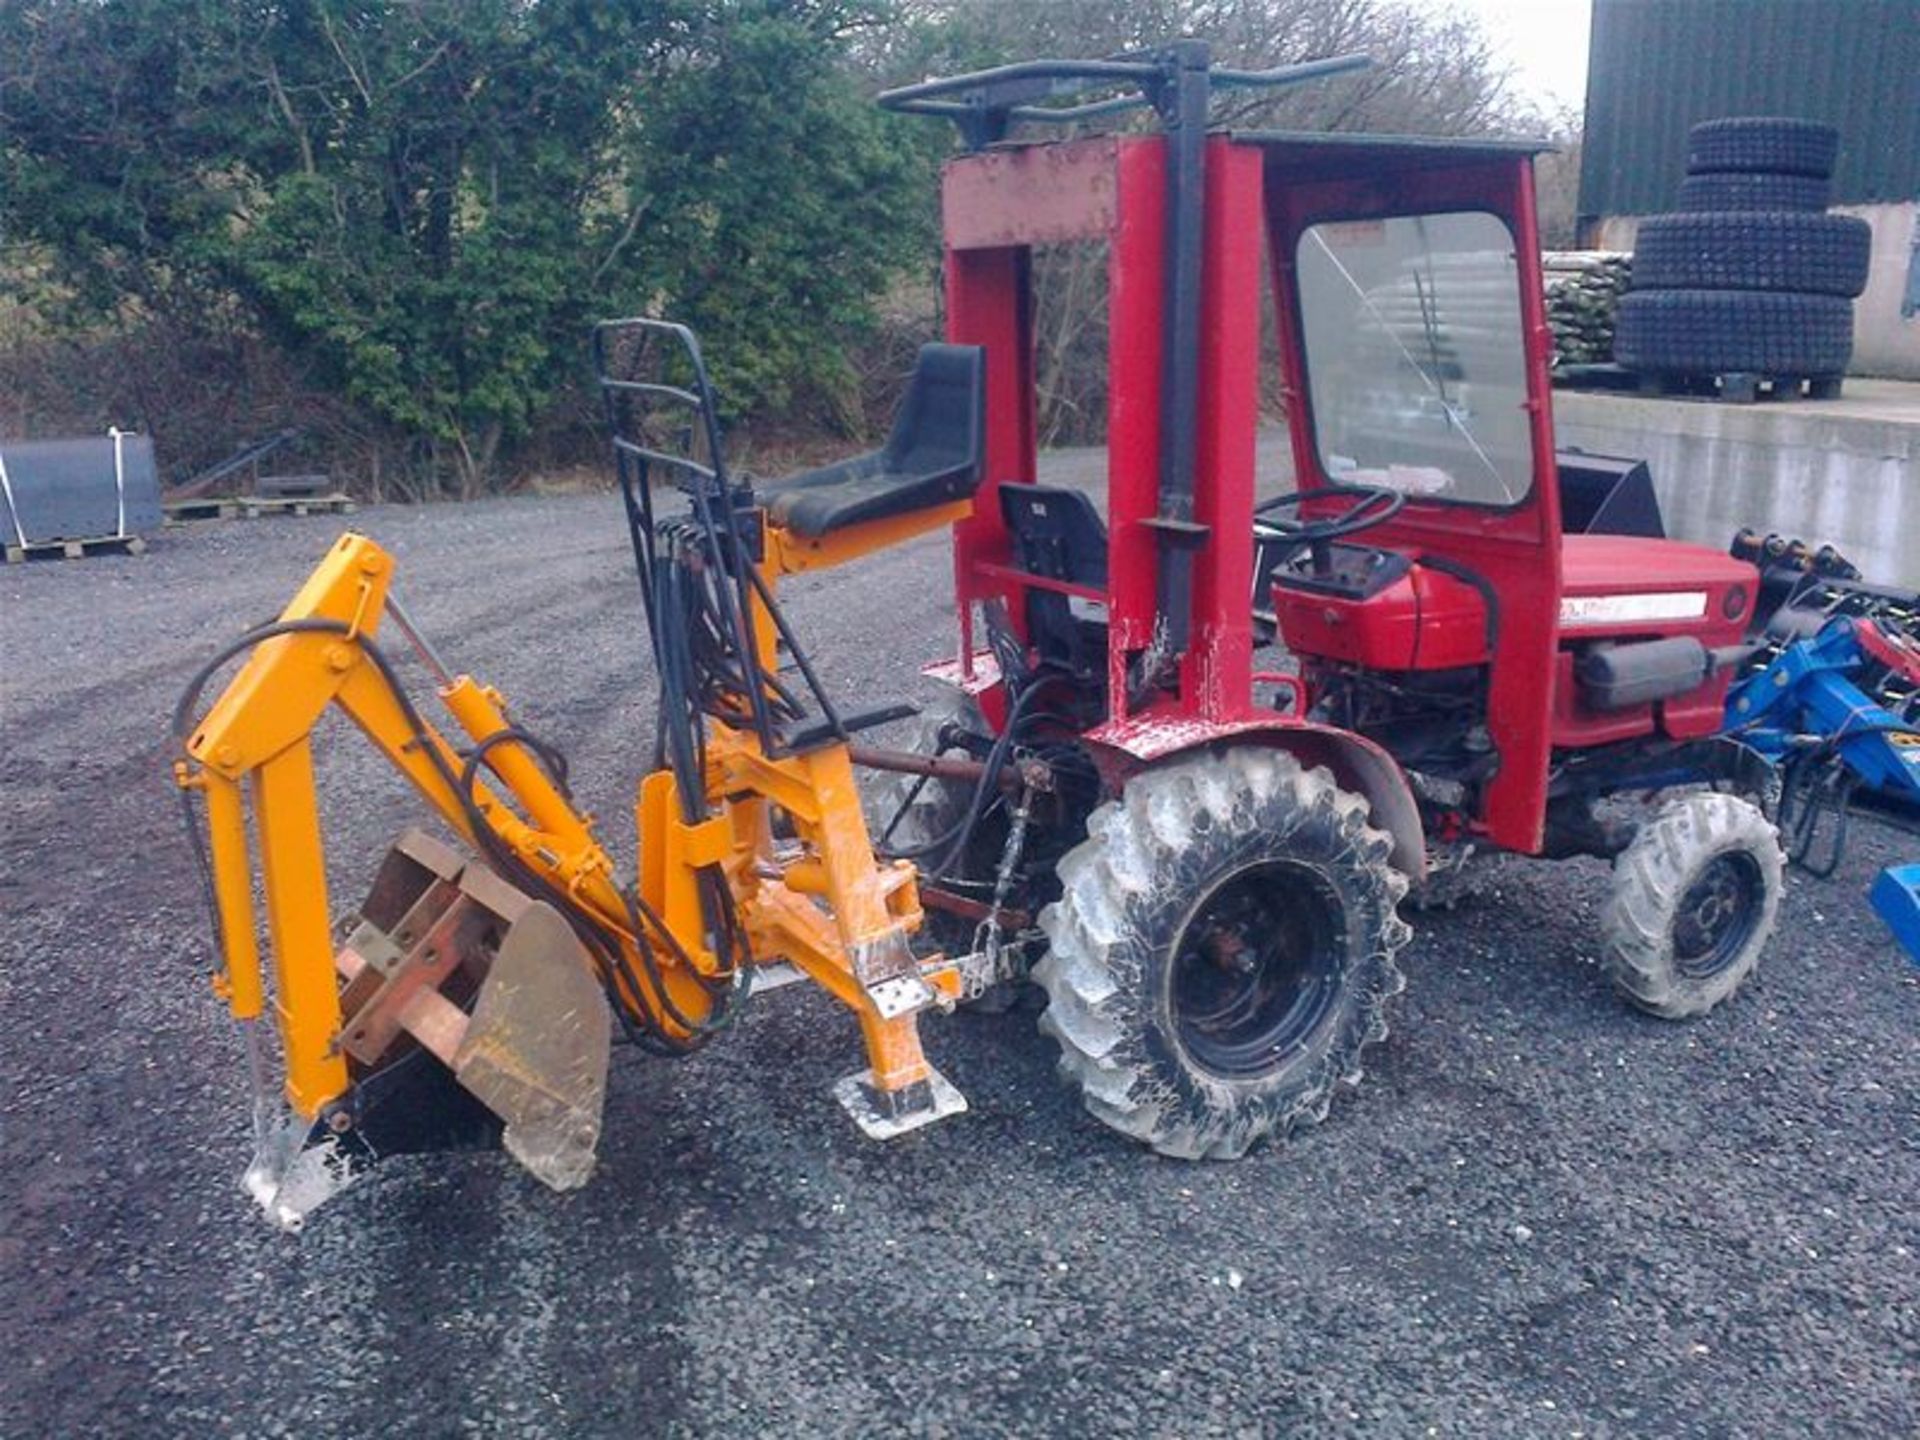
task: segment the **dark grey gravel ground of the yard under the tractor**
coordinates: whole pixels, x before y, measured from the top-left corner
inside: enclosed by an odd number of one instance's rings
[[[630,835],[614,501],[355,524]],[[1864,904],[1912,847],[1872,826],[1692,1025],[1611,996],[1599,866],[1515,868],[1421,925],[1367,1083],[1236,1165],[1087,1119],[1031,1010],[929,1021],[973,1110],[870,1144],[828,1096],[852,1023],[789,989],[697,1060],[616,1060],[586,1190],[401,1160],[267,1229],[163,728],[336,528],[0,572],[0,1432],[1920,1432],[1920,972]],[[849,703],[925,697],[939,541],[791,595]],[[328,739],[348,906],[417,806]]]

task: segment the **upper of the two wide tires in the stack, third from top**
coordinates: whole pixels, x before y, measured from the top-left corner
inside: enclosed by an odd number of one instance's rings
[[[1655,215],[1634,238],[1640,290],[1784,290],[1853,300],[1872,230],[1855,215],[1728,211]]]

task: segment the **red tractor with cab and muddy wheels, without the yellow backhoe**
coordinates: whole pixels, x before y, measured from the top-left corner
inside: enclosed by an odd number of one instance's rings
[[[1402,899],[1480,854],[1613,860],[1605,964],[1672,1018],[1734,993],[1782,887],[1768,768],[1722,733],[1759,572],[1659,538],[1644,468],[1555,453],[1540,146],[1208,129],[1261,81],[1181,42],[881,100],[968,146],[947,338],[985,353],[985,440],[941,764],[854,756],[902,768],[877,843],[981,981],[1046,991],[1087,1108],[1175,1156],[1319,1119],[1386,1033]],[[1160,125],[1006,142],[1129,104]],[[1106,252],[1104,513],[1037,484],[1029,276],[1066,244]]]

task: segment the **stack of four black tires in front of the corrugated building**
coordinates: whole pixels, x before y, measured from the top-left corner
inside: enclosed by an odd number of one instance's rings
[[[1667,380],[1837,390],[1866,288],[1866,221],[1828,215],[1839,136],[1805,119],[1695,125],[1680,209],[1640,225],[1613,357]]]

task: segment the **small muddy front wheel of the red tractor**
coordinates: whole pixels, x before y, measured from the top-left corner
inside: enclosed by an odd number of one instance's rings
[[[1668,801],[1613,862],[1601,931],[1615,989],[1665,1020],[1713,1010],[1759,964],[1784,872],[1780,833],[1753,803]]]

